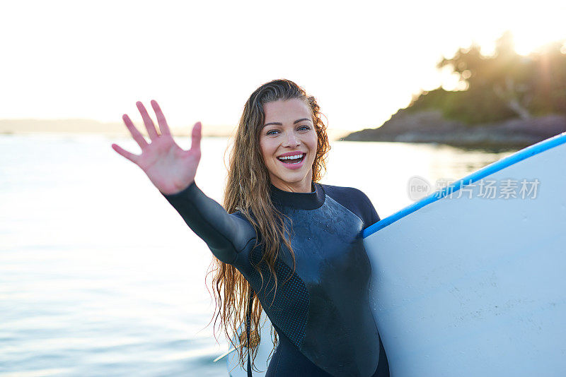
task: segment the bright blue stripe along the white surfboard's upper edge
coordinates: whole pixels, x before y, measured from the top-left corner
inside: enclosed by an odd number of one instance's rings
[[[444,196],[458,191],[464,186],[473,184],[475,181],[479,181],[486,176],[489,176],[495,172],[499,172],[499,170],[504,169],[505,167],[509,167],[512,164],[516,164],[519,161],[525,160],[526,158],[532,157],[534,155],[538,155],[538,153],[544,152],[545,150],[549,150],[550,148],[554,148],[564,143],[566,143],[566,132],[560,133],[557,136],[553,136],[552,138],[548,138],[539,143],[530,145],[527,148],[521,149],[518,152],[505,157],[503,160],[493,162],[492,164],[479,169],[477,172],[473,172],[472,174],[465,176],[462,179],[458,179],[453,184],[446,186],[441,190],[422,198],[420,201],[412,203],[408,207],[403,208],[403,210],[400,210],[397,213],[393,213],[393,215],[388,216],[385,219],[376,222],[374,225],[367,227],[366,229],[364,229],[363,237],[366,238],[371,236],[371,234],[374,234],[379,229],[383,229],[384,227],[393,224],[393,222],[400,220],[407,215],[410,215],[416,210],[423,208],[425,205],[434,203],[435,201],[444,198]],[[464,182],[465,184],[463,184]]]

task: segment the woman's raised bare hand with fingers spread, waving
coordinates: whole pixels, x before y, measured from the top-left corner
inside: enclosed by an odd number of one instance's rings
[[[122,116],[129,133],[141,148],[141,155],[134,155],[124,150],[120,145],[112,144],[112,149],[128,160],[137,164],[149,177],[151,183],[166,195],[183,191],[195,181],[195,174],[200,161],[200,138],[202,124],[197,122],[192,127],[190,150],[183,150],[175,143],[171,131],[156,101],[151,101],[151,107],[157,117],[161,135],[157,133],[154,121],[151,120],[144,104],[136,102],[137,108],[144,119],[147,133],[151,140],[147,143],[144,136],[129,119],[127,114]]]

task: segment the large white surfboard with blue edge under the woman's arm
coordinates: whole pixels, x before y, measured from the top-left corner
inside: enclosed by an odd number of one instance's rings
[[[364,229],[391,376],[566,373],[566,133]],[[271,324],[255,365],[269,365]],[[229,376],[248,376],[236,352]],[[255,372],[254,376],[264,376]]]

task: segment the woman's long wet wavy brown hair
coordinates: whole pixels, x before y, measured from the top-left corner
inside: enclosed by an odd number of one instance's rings
[[[284,244],[294,253],[289,244],[288,229],[284,226],[282,213],[273,205],[270,197],[270,176],[263,161],[260,149],[260,131],[265,123],[263,105],[277,100],[291,100],[297,98],[305,102],[312,112],[312,119],[318,136],[317,150],[313,162],[313,181],[317,182],[326,169],[326,158],[330,144],[326,134],[326,125],[323,123],[315,97],[307,95],[305,90],[293,81],[279,79],[261,85],[250,95],[243,109],[243,114],[234,136],[233,148],[230,152],[228,177],[224,189],[224,208],[228,213],[240,211],[253,225],[256,245],[262,246],[262,258],[255,269],[260,272],[259,264],[265,263],[271,275],[275,278],[275,261],[279,249]],[[293,265],[293,270],[295,265]],[[246,311],[249,297],[252,297],[252,311],[250,318],[250,356],[255,357],[258,352],[258,334],[262,306],[252,287],[243,275],[233,267],[214,258],[210,271],[214,277],[212,287],[216,309],[214,323],[220,320],[220,327],[226,336],[231,339],[233,347],[239,343],[246,345]],[[263,279],[263,277],[262,277]],[[284,282],[282,282],[284,284]],[[241,328],[240,339],[233,337],[236,330]],[[274,347],[276,338],[274,340]],[[238,348],[238,357],[244,366],[248,357],[248,347]]]

